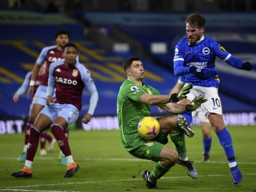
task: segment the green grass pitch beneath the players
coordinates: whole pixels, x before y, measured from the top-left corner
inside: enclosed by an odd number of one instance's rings
[[[158,180],[161,192],[253,192],[256,191],[256,129],[253,126],[228,127],[232,135],[236,159],[243,174],[241,184],[234,185],[226,156],[216,134],[212,131],[212,162],[202,158],[202,133],[194,128],[193,138],[186,138],[188,157],[196,160],[194,166],[199,178],[187,176],[184,168],[176,164]],[[33,163],[32,178],[12,178],[11,172],[20,170],[24,163],[16,161],[23,148],[23,134],[0,135],[0,191],[148,191],[141,173],[152,170],[154,162],[131,156],[123,148],[118,130],[71,130],[69,142],[73,158],[80,170],[72,178],[62,178],[66,167],[57,160],[59,149],[46,156],[39,150]],[[170,146],[174,147],[171,141]],[[46,146],[47,148],[47,146]],[[8,158],[10,157],[10,158]],[[52,158],[51,160],[47,158]]]

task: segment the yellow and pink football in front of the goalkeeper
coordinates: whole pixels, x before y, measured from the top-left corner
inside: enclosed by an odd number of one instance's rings
[[[142,138],[152,139],[158,135],[160,124],[154,117],[144,117],[139,121],[137,129]]]

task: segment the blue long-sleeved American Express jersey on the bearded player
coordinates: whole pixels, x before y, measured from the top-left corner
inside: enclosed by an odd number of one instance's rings
[[[193,85],[218,87],[220,80],[215,69],[216,56],[231,66],[242,69],[242,60],[232,56],[212,38],[202,36],[195,45],[190,45],[187,37],[183,38],[175,48],[174,74],[178,76],[185,75],[185,82]],[[204,78],[201,80],[191,74],[189,72],[190,66],[195,66],[198,70],[202,70]]]

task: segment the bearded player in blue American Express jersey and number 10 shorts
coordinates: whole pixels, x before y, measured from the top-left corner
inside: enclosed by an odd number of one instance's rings
[[[187,95],[188,98],[180,103],[188,104],[195,95],[204,94],[208,99],[202,104],[202,111],[208,117],[214,132],[216,132],[222,145],[234,184],[242,180],[238,168],[232,139],[226,129],[222,118],[222,106],[218,96],[220,80],[215,69],[215,58],[218,56],[229,65],[242,70],[252,70],[252,64],[235,58],[225,48],[210,37],[204,36],[205,18],[193,13],[185,20],[187,37],[178,42],[174,55],[174,74],[186,76],[185,82],[192,83],[193,88]],[[185,115],[188,124],[192,121],[190,114]]]

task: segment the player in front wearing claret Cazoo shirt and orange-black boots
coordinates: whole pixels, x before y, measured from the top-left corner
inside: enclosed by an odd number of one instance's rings
[[[21,171],[13,172],[12,176],[14,177],[32,176],[32,162],[38,147],[39,135],[49,126],[57,139],[58,146],[66,156],[67,171],[63,177],[72,177],[79,169],[78,164],[73,160],[68,139],[63,130],[68,127],[68,124],[75,122],[79,116],[84,86],[89,90],[91,98],[88,113],[84,115],[82,121],[90,122],[98,102],[98,92],[90,72],[84,65],[76,62],[77,48],[75,44],[64,45],[63,57],[64,61],[54,62],[50,66],[46,93],[47,106],[43,108],[36,118],[36,122],[31,126],[30,146],[27,150],[25,166]],[[56,88],[55,100],[52,98],[54,87]]]

